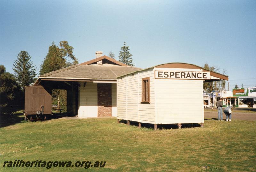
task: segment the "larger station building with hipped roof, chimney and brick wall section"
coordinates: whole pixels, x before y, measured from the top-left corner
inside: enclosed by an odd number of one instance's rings
[[[95,54],[96,58],[90,61],[39,76],[35,85],[42,86],[50,94],[53,89],[67,90],[67,113],[73,116],[117,116],[116,77],[140,68],[102,56],[102,51]]]

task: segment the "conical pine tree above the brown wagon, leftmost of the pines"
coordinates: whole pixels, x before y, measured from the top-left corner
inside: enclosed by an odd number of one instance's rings
[[[20,51],[13,64],[13,71],[20,86],[28,86],[34,82],[36,68],[30,60],[31,56],[27,51]]]

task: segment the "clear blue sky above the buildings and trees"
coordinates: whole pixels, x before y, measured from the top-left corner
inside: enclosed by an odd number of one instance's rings
[[[21,50],[39,70],[52,41],[79,62],[95,51],[118,59],[123,42],[137,67],[167,62],[225,69],[231,88],[256,85],[256,1],[0,1],[0,64],[13,73]]]

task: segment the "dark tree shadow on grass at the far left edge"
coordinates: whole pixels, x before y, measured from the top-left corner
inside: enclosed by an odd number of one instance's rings
[[[24,121],[23,113],[15,114],[1,114],[0,115],[0,127],[7,127],[9,125],[14,125],[16,123],[21,123]]]

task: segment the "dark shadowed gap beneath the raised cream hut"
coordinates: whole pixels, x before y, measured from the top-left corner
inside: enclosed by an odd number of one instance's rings
[[[127,124],[126,120],[120,120],[120,123]],[[132,126],[139,126],[139,123],[136,121],[130,121],[130,125]],[[201,125],[199,123],[183,123],[181,124],[181,128],[194,128],[194,127],[200,127]],[[150,123],[141,123],[141,127],[148,128],[154,130],[154,124]],[[163,129],[178,129],[178,124],[157,124],[158,130]]]

